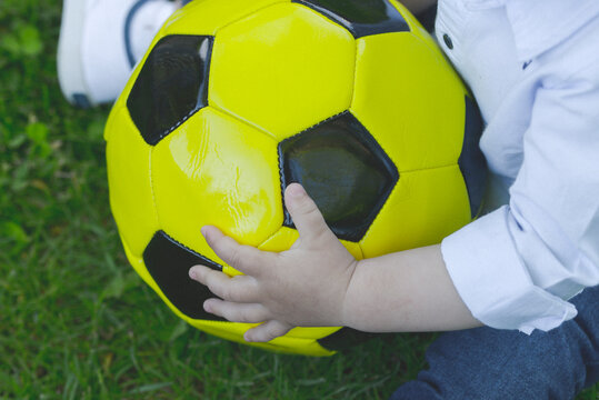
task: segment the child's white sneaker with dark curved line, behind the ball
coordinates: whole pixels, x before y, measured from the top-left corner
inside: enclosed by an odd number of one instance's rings
[[[166,19],[168,0],[63,0],[58,80],[73,106],[117,99]]]

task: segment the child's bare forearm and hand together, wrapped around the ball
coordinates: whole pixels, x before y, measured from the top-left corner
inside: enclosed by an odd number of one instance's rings
[[[300,233],[290,250],[260,251],[204,227],[217,254],[246,274],[229,278],[201,266],[190,270],[223,299],[207,300],[207,311],[237,322],[266,322],[246,340],[268,341],[296,326],[375,332],[480,326],[453,288],[439,246],[357,261],[301,186],[290,184],[284,198]]]

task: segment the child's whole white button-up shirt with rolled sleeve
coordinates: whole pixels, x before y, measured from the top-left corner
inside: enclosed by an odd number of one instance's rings
[[[441,243],[449,274],[487,326],[558,327],[599,284],[599,0],[440,0],[436,34],[491,171],[490,212]]]

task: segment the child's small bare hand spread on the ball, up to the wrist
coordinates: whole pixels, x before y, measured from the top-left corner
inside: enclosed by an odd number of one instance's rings
[[[222,298],[207,300],[206,311],[234,322],[264,322],[246,332],[247,341],[269,341],[296,326],[343,324],[343,301],[358,261],[300,184],[287,188],[284,203],[300,233],[291,249],[260,251],[207,226],[202,233],[210,247],[244,276],[229,278],[203,266],[189,270]]]

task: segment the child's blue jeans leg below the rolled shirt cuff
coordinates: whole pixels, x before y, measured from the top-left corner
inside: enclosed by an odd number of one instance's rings
[[[430,368],[391,400],[573,399],[599,381],[599,287],[570,302],[578,316],[549,332],[443,333],[427,350]]]

